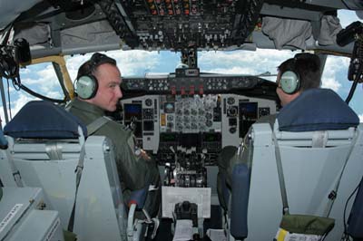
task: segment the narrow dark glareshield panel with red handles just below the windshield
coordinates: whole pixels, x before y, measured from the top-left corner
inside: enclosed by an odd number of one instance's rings
[[[193,72],[191,72],[193,70]],[[219,75],[199,73],[199,69],[176,69],[176,73],[150,75],[142,78],[123,78],[127,92],[147,92],[148,94],[194,95],[205,93],[227,93],[241,90],[262,90],[263,98],[274,99],[269,89],[275,84],[258,76]],[[268,94],[268,95],[266,95]]]

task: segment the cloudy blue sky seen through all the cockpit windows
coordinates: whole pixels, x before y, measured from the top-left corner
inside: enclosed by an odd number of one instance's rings
[[[345,27],[357,21],[355,14],[348,12],[339,13],[340,24]],[[113,51],[107,55],[116,59],[123,76],[143,76],[146,72],[174,72],[180,63],[180,53],[173,52],[147,52],[147,51]],[[198,55],[198,66],[201,72],[259,74],[262,72],[276,73],[276,67],[281,62],[292,57],[295,53],[290,51],[260,50],[231,51],[231,52],[201,52]],[[66,65],[72,80],[75,79],[78,67],[90,58],[91,54],[66,56]],[[338,92],[345,100],[351,86],[348,82],[349,59],[345,57],[329,57],[322,76],[322,87],[330,88]],[[54,99],[63,99],[63,93],[57,82],[53,66],[50,64],[38,64],[21,69],[22,83],[30,89],[41,92]],[[274,78],[272,78],[274,81]],[[6,80],[3,79],[5,89]],[[355,95],[350,101],[350,106],[358,113],[363,122],[362,84],[358,84]],[[35,98],[25,92],[15,91],[10,83],[9,88],[11,114],[15,115],[27,101]],[[6,93],[7,95],[7,93]],[[1,104],[0,117],[5,124],[4,111]]]

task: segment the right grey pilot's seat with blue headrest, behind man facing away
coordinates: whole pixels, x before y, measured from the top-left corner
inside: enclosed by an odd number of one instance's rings
[[[301,93],[280,111],[273,130],[268,123],[253,124],[250,144],[244,145],[244,153],[252,155],[240,157],[250,170],[245,240],[272,240],[280,226],[278,151],[289,213],[335,218],[335,227],[324,240],[340,240],[344,208],[347,205],[350,210],[348,197],[363,173],[362,131],[357,114],[335,92],[325,89]],[[232,188],[232,197],[233,193]]]

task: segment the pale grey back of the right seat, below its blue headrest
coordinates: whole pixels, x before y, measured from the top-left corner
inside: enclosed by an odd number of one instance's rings
[[[321,133],[280,131],[278,125],[275,126],[291,214],[323,216],[326,213],[329,193],[337,184],[351,145],[355,145],[340,179],[338,197],[329,214],[329,217],[336,219],[336,224],[325,240],[339,240],[343,233],[344,207],[363,173],[362,130],[362,124],[357,129],[326,130],[324,145],[313,147],[313,140]],[[253,159],[250,167],[247,240],[269,240],[276,235],[282,217],[280,182],[270,125],[252,125],[251,137]]]

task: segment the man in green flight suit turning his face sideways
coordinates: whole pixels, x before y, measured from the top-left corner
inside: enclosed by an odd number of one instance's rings
[[[137,149],[132,130],[103,117],[105,111],[116,111],[123,97],[121,83],[116,61],[105,54],[93,53],[78,70],[75,82],[77,97],[71,101],[68,110],[87,125],[88,135],[106,136],[113,141],[123,198],[129,202],[132,191],[147,189],[150,185],[159,187],[160,176],[156,162],[142,149]],[[155,217],[160,203],[159,188],[148,192],[144,208]]]

